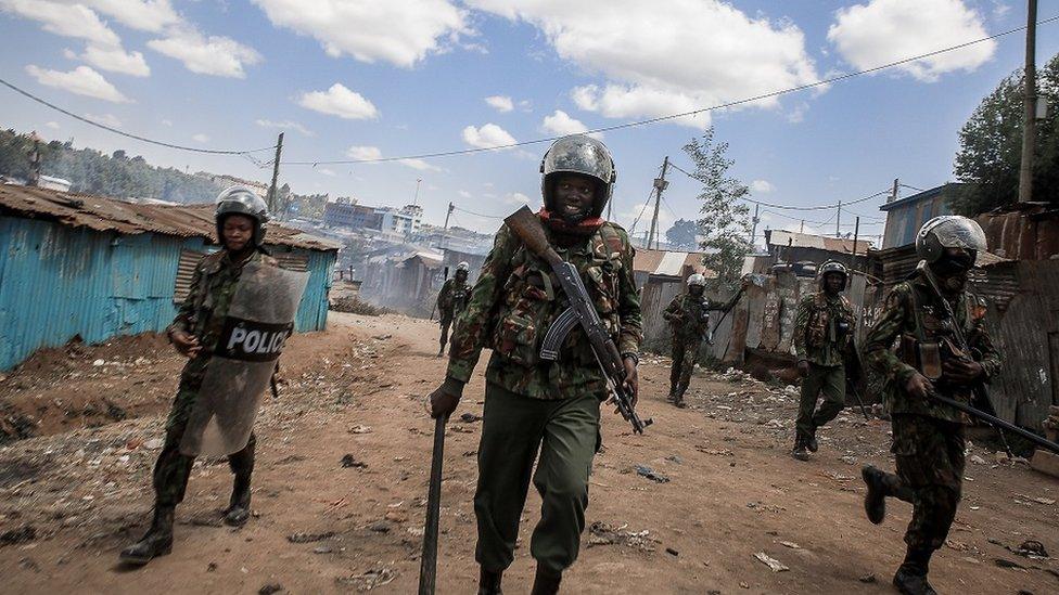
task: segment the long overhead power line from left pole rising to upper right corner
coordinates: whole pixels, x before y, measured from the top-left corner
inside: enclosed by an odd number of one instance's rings
[[[1037,21],[1037,25],[1046,25],[1046,24],[1052,23],[1055,21],[1059,21],[1059,15],[1051,16],[1051,17],[1045,18],[1043,21]],[[865,68],[863,70],[855,70],[853,73],[846,73],[846,74],[843,74],[843,75],[835,75],[833,77],[822,78],[822,79],[819,79],[819,80],[815,80],[813,82],[806,82],[805,85],[799,85],[799,86],[795,86],[795,87],[788,87],[787,89],[780,89],[778,91],[769,91],[767,93],[761,93],[761,94],[757,94],[757,95],[751,95],[751,96],[748,96],[748,98],[743,98],[743,99],[730,101],[730,102],[727,102],[727,103],[722,103],[722,104],[713,105],[713,106],[710,106],[710,107],[702,107],[702,108],[699,108],[699,109],[692,109],[690,112],[681,112],[679,114],[669,114],[667,116],[658,116],[658,117],[654,117],[654,118],[648,118],[648,119],[643,119],[643,120],[636,120],[636,121],[629,121],[629,122],[624,122],[624,124],[615,124],[613,126],[604,126],[604,127],[601,127],[601,128],[594,128],[591,130],[586,130],[584,133],[585,134],[594,134],[594,133],[597,133],[597,132],[612,132],[614,130],[623,130],[625,128],[635,128],[635,127],[639,127],[639,126],[648,126],[648,125],[652,125],[652,124],[659,124],[659,122],[663,122],[663,121],[668,121],[668,120],[675,120],[675,119],[679,119],[679,118],[687,118],[687,117],[691,117],[691,116],[697,116],[699,114],[705,114],[707,112],[713,112],[713,111],[716,111],[716,109],[724,109],[726,107],[735,107],[737,105],[743,105],[743,104],[754,103],[756,101],[762,101],[762,100],[766,100],[766,99],[778,98],[778,96],[786,95],[786,94],[790,94],[790,93],[796,93],[799,91],[805,91],[805,90],[808,90],[808,89],[814,89],[816,87],[825,87],[825,86],[831,85],[833,82],[839,82],[839,81],[847,80],[847,79],[855,78],[855,77],[863,76],[863,75],[869,75],[871,73],[878,73],[879,70],[885,70],[888,68],[893,68],[894,66],[901,66],[902,64],[908,64],[910,62],[916,62],[916,61],[919,61],[919,60],[923,60],[923,59],[927,59],[927,57],[932,57],[932,56],[940,55],[940,54],[944,54],[944,53],[947,53],[947,52],[953,52],[953,51],[956,51],[956,50],[962,50],[964,48],[968,48],[968,47],[971,47],[971,46],[977,46],[979,43],[984,43],[984,42],[990,41],[990,40],[993,40],[993,39],[998,39],[1000,37],[1005,37],[1005,36],[1011,35],[1011,34],[1016,34],[1016,33],[1025,30],[1025,28],[1026,28],[1026,26],[1016,27],[1013,29],[1008,29],[1006,31],[1000,31],[998,34],[993,34],[991,36],[983,37],[983,38],[980,38],[980,39],[974,39],[974,40],[971,40],[971,41],[965,41],[964,43],[958,43],[956,46],[949,46],[948,48],[942,48],[940,50],[934,50],[932,52],[927,52],[927,53],[922,53],[922,54],[919,54],[919,55],[914,55],[914,56],[905,57],[905,59],[902,59],[902,60],[895,60],[893,62],[888,62],[885,64],[880,64],[879,66],[873,66],[871,68]],[[499,150],[505,150],[505,148],[514,148],[514,147],[519,147],[519,146],[528,146],[528,145],[534,145],[534,144],[541,144],[541,143],[554,142],[554,141],[561,139],[561,138],[562,137],[547,137],[547,138],[544,138],[544,139],[535,139],[535,140],[532,140],[532,141],[513,142],[513,143],[501,144],[501,145],[496,145],[496,146],[474,147],[474,148],[460,148],[460,150],[452,150],[452,151],[437,151],[437,152],[434,152],[434,153],[421,153],[419,155],[403,155],[400,157],[375,157],[375,158],[371,158],[371,159],[315,159],[315,160],[309,160],[309,161],[285,161],[285,165],[317,166],[317,165],[380,164],[380,163],[387,163],[387,161],[400,161],[400,160],[405,160],[405,159],[430,159],[430,158],[434,158],[434,157],[451,157],[451,156],[457,156],[457,155],[471,155],[471,154],[474,154],[474,153],[483,153],[483,152],[486,152],[486,151],[499,151]]]

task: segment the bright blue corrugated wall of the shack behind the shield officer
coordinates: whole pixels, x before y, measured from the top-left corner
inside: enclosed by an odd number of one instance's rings
[[[120,235],[0,217],[0,370],[77,335],[94,344],[164,329],[176,314],[173,289],[182,248],[206,249],[202,238]],[[308,257],[310,272],[295,327],[322,329],[335,253],[293,251]]]

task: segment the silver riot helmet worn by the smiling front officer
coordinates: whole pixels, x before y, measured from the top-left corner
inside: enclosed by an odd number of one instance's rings
[[[540,194],[545,207],[551,209],[554,178],[562,173],[580,173],[597,181],[599,192],[592,205],[591,217],[603,214],[607,202],[614,192],[617,171],[607,145],[585,134],[571,134],[552,143],[540,160]]]

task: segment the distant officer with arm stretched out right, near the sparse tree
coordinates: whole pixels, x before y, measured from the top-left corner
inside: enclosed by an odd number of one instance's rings
[[[684,393],[691,381],[691,372],[699,357],[702,339],[709,338],[710,311],[727,312],[736,305],[737,294],[728,303],[720,303],[703,296],[706,277],[699,273],[688,276],[688,293],[673,298],[662,312],[673,331],[673,365],[669,367],[669,400],[684,408]]]

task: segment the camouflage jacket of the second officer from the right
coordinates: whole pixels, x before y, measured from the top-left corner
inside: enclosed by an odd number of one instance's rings
[[[822,290],[809,294],[798,303],[794,355],[816,365],[841,365],[854,327],[853,305],[845,296],[829,299]]]

